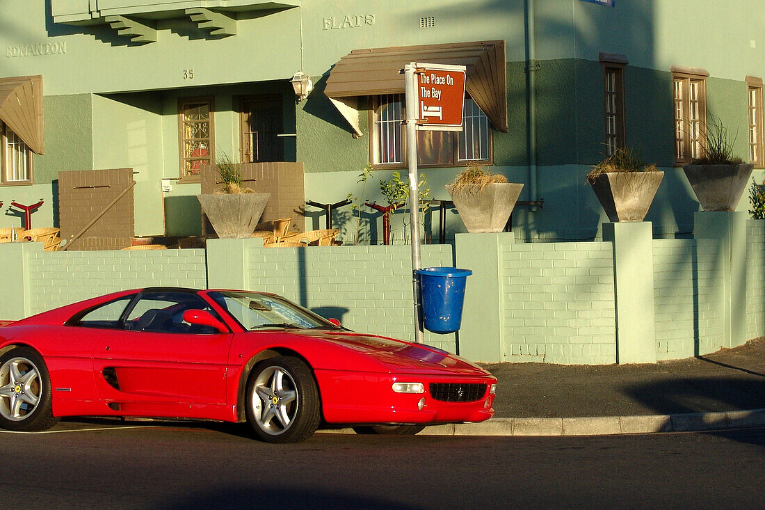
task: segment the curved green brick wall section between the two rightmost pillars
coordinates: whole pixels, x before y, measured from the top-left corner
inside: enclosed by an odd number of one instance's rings
[[[721,342],[723,278],[715,263],[719,249],[715,240],[653,241],[658,360],[688,358]]]

